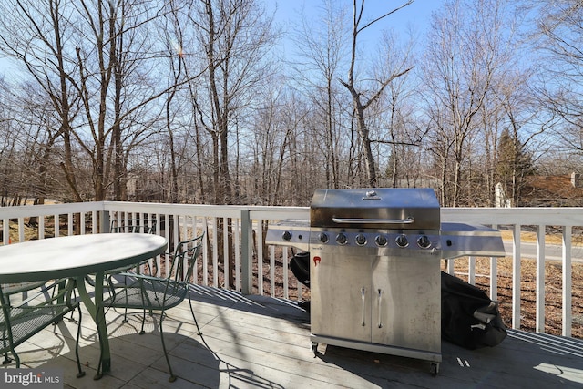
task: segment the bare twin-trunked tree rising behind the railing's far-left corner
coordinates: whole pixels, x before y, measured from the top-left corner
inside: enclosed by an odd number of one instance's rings
[[[161,110],[154,103],[168,90],[149,78],[159,72],[159,63],[153,57],[160,53],[158,41],[148,39],[145,33],[158,13],[129,0],[82,1],[76,9],[88,26],[83,45],[76,47],[74,77],[83,106],[83,126],[88,128],[90,140],[78,131],[75,135],[92,160],[96,200],[105,199],[111,183],[120,197],[119,180],[126,177],[123,153],[151,134]],[[128,138],[122,135],[127,130]],[[133,143],[123,144],[128,139]],[[114,158],[107,158],[111,153]],[[114,164],[112,178],[107,174],[109,163]]]

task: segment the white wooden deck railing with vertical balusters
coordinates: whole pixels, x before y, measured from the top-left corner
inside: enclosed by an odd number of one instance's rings
[[[36,217],[36,224],[29,226],[30,218]],[[50,236],[72,235],[74,233],[93,233],[107,231],[108,220],[113,218],[156,218],[159,220],[157,233],[170,242],[188,237],[192,231],[207,232],[207,241],[203,248],[203,258],[197,274],[198,282],[204,285],[235,289],[251,294],[270,294],[273,297],[290,298],[293,289],[295,296],[302,296],[302,285],[295,282],[288,274],[288,260],[291,250],[285,247],[275,250],[270,247],[264,255],[263,230],[259,228],[265,220],[274,222],[285,219],[309,219],[307,207],[252,207],[252,206],[214,206],[99,201],[43,206],[21,206],[0,208],[3,241],[26,241],[27,235],[35,239]],[[520,328],[520,275],[521,273],[521,231],[522,226],[534,226],[536,230],[536,331],[545,331],[545,249],[548,247],[545,237],[547,226],[558,228],[562,234],[562,334],[571,335],[572,328],[572,294],[571,261],[573,228],[583,227],[583,209],[579,208],[444,208],[442,221],[477,223],[504,226],[512,231],[512,252],[506,252],[513,262],[512,286],[512,327]],[[60,220],[54,223],[54,220]],[[220,229],[227,225],[230,228]],[[6,228],[10,226],[10,229]],[[12,233],[9,233],[12,230]],[[50,230],[50,234],[46,233]],[[216,231],[217,233],[214,233]],[[230,238],[230,235],[232,239]],[[17,237],[10,239],[10,236]],[[222,238],[222,239],[220,239]],[[222,247],[219,242],[222,241]],[[232,242],[230,246],[229,242]],[[234,279],[230,284],[228,277],[222,276],[223,269],[228,269],[229,252],[234,253]],[[220,258],[223,258],[220,262]],[[268,260],[257,261],[257,258]],[[0,259],[1,261],[1,259]],[[156,261],[166,261],[169,256]],[[460,259],[456,261],[462,261]],[[468,258],[468,280],[476,279],[475,258]],[[490,260],[490,297],[497,300],[496,259]],[[448,261],[447,270],[453,272],[453,262]],[[158,262],[158,264],[160,264]],[[283,266],[282,264],[285,264]],[[277,268],[281,267],[279,272]],[[161,267],[158,266],[157,269]],[[282,275],[276,280],[276,273]],[[291,280],[291,281],[290,281]],[[266,284],[267,283],[267,284]],[[292,283],[292,285],[290,284]],[[263,287],[259,287],[262,285]],[[302,297],[299,297],[300,299]]]

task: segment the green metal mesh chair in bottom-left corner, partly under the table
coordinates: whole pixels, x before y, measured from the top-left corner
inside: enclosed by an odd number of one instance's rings
[[[65,286],[63,286],[64,284]],[[40,289],[38,289],[39,286]],[[15,348],[49,325],[60,322],[66,313],[77,310],[79,313],[77,340],[75,343],[77,377],[85,375],[79,361],[81,309],[79,302],[74,302],[71,299],[71,293],[75,287],[74,280],[68,280],[68,282],[59,280],[48,285],[45,282],[25,282],[17,286],[6,284],[0,286],[0,303],[2,304],[2,311],[0,312],[0,335],[2,339],[0,353],[5,354],[3,364],[12,362],[8,357],[8,353],[11,353],[16,361],[16,368],[19,368],[20,357]],[[12,304],[10,296],[22,292],[30,292],[32,296],[22,302]]]

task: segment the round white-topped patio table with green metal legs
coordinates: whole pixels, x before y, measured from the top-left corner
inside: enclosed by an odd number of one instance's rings
[[[166,247],[164,237],[142,233],[75,235],[0,246],[0,283],[76,279],[81,301],[97,324],[101,372],[108,373],[111,355],[102,303],[104,273],[146,261]],[[95,302],[86,289],[88,274],[95,275]]]

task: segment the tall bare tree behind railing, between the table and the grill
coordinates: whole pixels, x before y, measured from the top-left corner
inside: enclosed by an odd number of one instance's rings
[[[230,203],[230,128],[271,72],[266,55],[274,43],[272,17],[254,0],[203,0],[189,17],[205,54],[200,87],[206,91],[191,97],[200,126],[212,138],[214,201]]]

